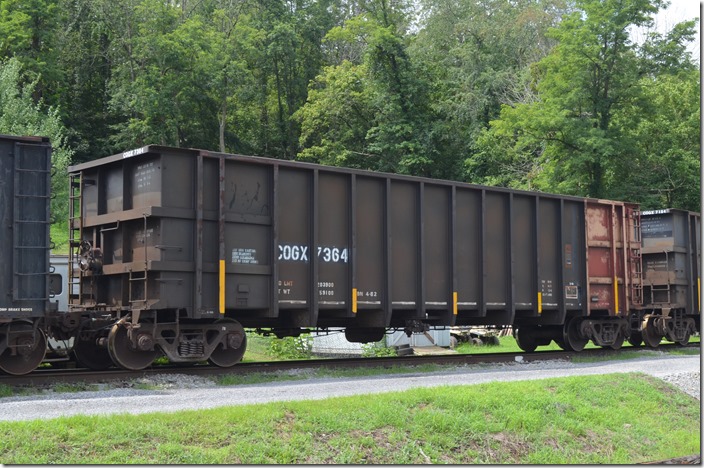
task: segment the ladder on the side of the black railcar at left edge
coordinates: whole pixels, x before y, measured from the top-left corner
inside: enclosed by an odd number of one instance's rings
[[[40,287],[46,283],[41,281],[33,282],[31,278],[48,277],[49,275],[48,263],[45,263],[42,267],[41,262],[38,263],[33,261],[33,259],[36,256],[47,255],[48,261],[47,251],[50,247],[46,240],[48,239],[48,229],[51,224],[49,210],[51,171],[49,169],[22,166],[24,153],[19,150],[20,146],[27,145],[15,146],[12,219],[12,299],[15,301],[46,301],[49,299],[48,286]],[[43,182],[37,180],[37,176],[43,178]],[[43,191],[42,188],[44,188]],[[33,200],[39,200],[41,203],[32,205],[31,202]],[[44,241],[42,242],[40,239]],[[28,242],[30,243],[29,245],[27,245]],[[37,253],[37,251],[39,252]]]

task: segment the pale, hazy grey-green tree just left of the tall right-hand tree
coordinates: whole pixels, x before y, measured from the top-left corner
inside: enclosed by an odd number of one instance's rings
[[[475,141],[499,116],[501,104],[533,97],[524,76],[554,46],[555,40],[546,33],[558,24],[564,4],[561,0],[421,2],[422,28],[411,53],[432,76],[429,97],[438,116],[433,122],[438,151],[453,155],[457,163],[481,159]],[[464,176],[459,164],[455,171],[454,177]],[[470,180],[482,180],[476,172],[469,173]]]

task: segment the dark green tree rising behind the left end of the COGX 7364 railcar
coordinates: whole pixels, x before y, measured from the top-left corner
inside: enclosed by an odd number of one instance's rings
[[[122,117],[114,144],[212,147],[218,124],[207,89],[206,25],[198,15],[182,19],[179,8],[158,0],[143,0],[135,15],[140,22],[110,82],[110,106]]]

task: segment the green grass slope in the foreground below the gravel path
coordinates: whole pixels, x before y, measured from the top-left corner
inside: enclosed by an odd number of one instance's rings
[[[699,453],[699,402],[642,374],[0,423],[14,464],[620,464]]]

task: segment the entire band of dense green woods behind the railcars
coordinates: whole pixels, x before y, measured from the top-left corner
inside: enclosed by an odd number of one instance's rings
[[[629,35],[665,6],[0,0],[0,130],[60,169],[154,143],[698,211],[695,22]]]

